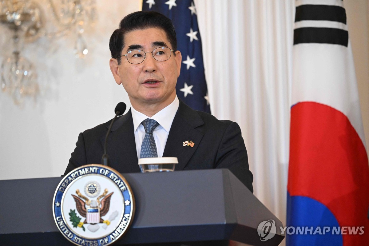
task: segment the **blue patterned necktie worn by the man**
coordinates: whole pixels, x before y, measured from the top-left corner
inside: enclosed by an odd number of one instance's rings
[[[140,158],[158,157],[158,150],[156,150],[156,144],[152,132],[158,127],[159,123],[155,119],[145,119],[141,122],[145,128],[145,137],[141,145]],[[143,172],[140,165],[141,173]]]

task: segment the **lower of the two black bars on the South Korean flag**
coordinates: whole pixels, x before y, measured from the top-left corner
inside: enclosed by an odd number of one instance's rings
[[[348,45],[348,31],[326,27],[301,27],[293,32],[293,44],[320,43]]]

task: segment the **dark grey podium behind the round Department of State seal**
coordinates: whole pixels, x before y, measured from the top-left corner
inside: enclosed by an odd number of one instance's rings
[[[115,245],[279,245],[262,242],[262,221],[282,223],[227,169],[126,173],[133,224]],[[0,181],[0,245],[73,245],[52,214],[61,177]]]

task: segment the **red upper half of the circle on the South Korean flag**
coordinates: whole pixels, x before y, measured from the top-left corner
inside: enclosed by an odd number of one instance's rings
[[[324,204],[340,226],[365,226],[363,235],[342,235],[344,245],[369,242],[368,156],[342,112],[314,102],[292,107],[287,189]]]

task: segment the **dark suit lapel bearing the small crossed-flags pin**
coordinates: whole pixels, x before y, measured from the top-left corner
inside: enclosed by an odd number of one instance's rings
[[[179,101],[179,108],[173,119],[172,127],[170,127],[163,153],[163,156],[178,158],[175,170],[183,170],[196,151],[203,133],[195,128],[204,124],[195,110],[188,107],[181,100]],[[195,145],[193,147],[183,146],[183,142],[187,140],[194,142]]]

